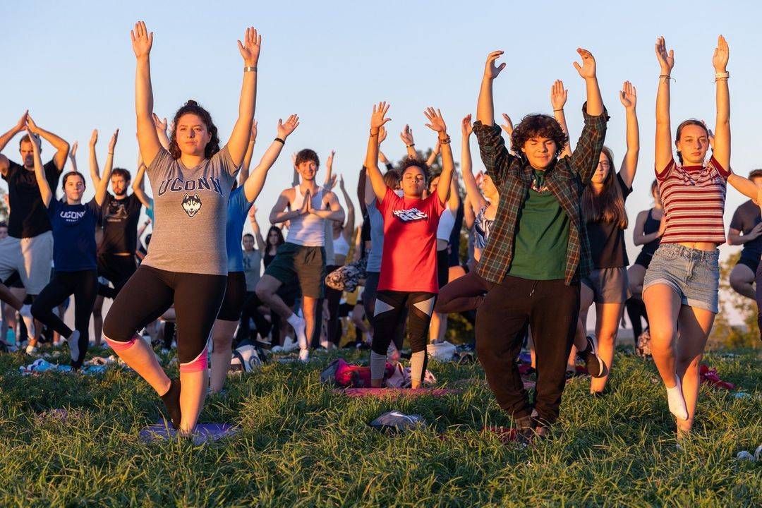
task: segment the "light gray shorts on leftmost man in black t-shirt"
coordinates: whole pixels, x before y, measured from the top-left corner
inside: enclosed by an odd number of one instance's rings
[[[27,295],[39,295],[50,283],[52,264],[53,232],[31,238],[8,236],[0,240],[0,280],[8,280],[18,272]]]

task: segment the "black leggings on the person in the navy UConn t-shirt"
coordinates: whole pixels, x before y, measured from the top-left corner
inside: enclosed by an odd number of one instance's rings
[[[46,326],[53,328],[62,337],[69,338],[72,329],[53,313],[53,308],[61,305],[70,295],[74,295],[74,327],[79,332],[77,341],[79,357],[72,362],[72,366],[79,368],[85,361],[85,353],[88,350],[90,316],[93,312],[95,297],[98,296],[98,271],[56,271],[53,273],[53,280],[34,299],[32,315]]]

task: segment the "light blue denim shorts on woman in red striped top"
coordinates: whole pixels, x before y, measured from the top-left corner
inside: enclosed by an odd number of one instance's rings
[[[700,251],[680,244],[661,244],[643,280],[649,286],[666,284],[683,305],[719,312],[719,251]]]

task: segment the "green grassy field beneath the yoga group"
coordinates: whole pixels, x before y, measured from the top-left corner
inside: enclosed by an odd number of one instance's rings
[[[459,395],[359,400],[319,383],[333,356],[230,378],[201,421],[241,431],[193,446],[138,439],[158,398],[134,372],[21,376],[28,359],[2,354],[0,506],[762,506],[762,463],[734,459],[762,444],[758,351],[706,357],[751,397],[703,386],[681,450],[655,367],[626,353],[610,395],[570,382],[552,436],[523,449],[481,432],[510,419],[478,365],[430,364],[438,385],[466,388]],[[66,420],[39,416],[58,408]],[[367,426],[392,409],[427,427]]]

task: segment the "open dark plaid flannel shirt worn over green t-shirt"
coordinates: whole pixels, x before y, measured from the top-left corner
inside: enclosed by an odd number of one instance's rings
[[[593,269],[588,231],[582,219],[580,203],[582,191],[597,168],[608,121],[605,108],[604,113],[592,117],[588,114],[587,103],[582,106],[582,114],[584,129],[574,152],[571,157],[552,163],[545,177],[546,186],[569,218],[565,270],[567,286],[587,276]],[[505,148],[500,126],[485,126],[477,121],[474,133],[479,140],[479,152],[487,174],[500,191],[498,213],[476,271],[492,283],[501,283],[514,257],[519,212],[532,184],[533,171],[526,159],[511,155]]]

